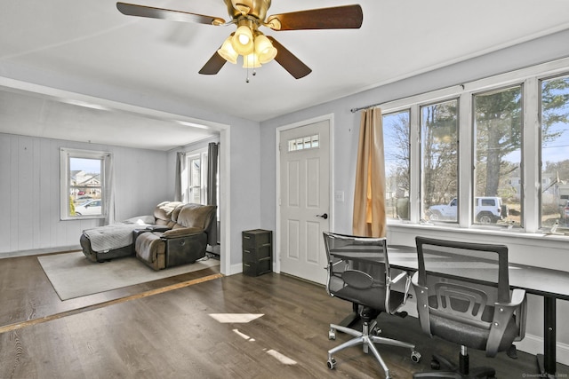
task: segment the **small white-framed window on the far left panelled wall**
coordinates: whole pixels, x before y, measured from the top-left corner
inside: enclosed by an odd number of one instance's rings
[[[104,152],[60,149],[61,219],[105,217],[109,160],[110,154]]]

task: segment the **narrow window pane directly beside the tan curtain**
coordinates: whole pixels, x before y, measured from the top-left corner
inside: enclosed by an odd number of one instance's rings
[[[409,110],[383,114],[388,218],[409,219]]]

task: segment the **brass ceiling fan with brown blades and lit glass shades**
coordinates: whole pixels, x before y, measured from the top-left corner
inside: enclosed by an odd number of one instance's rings
[[[264,36],[260,27],[281,30],[345,29],[360,28],[364,15],[358,4],[307,11],[274,14],[267,17],[271,0],[223,0],[228,7],[231,20],[202,14],[154,8],[146,5],[116,3],[119,12],[129,16],[151,19],[196,22],[213,26],[235,24],[237,29],[221,45],[199,71],[204,75],[215,75],[227,61],[236,63],[238,55],[244,57],[246,68],[260,67],[275,59],[294,78],[309,75],[312,70],[286,50],[273,36]]]

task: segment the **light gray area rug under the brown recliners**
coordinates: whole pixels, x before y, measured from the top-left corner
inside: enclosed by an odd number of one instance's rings
[[[37,257],[37,260],[61,300],[97,294],[220,265],[217,259],[207,259],[190,265],[154,271],[136,257],[93,263],[87,260],[82,251]]]

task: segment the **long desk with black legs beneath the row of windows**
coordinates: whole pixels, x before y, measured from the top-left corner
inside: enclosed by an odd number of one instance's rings
[[[417,271],[417,249],[389,246],[389,265],[405,271]],[[428,259],[428,256],[425,256]],[[509,264],[509,287],[522,288],[528,294],[543,296],[543,354],[538,354],[541,374],[556,373],[556,300],[569,300],[569,272]]]

